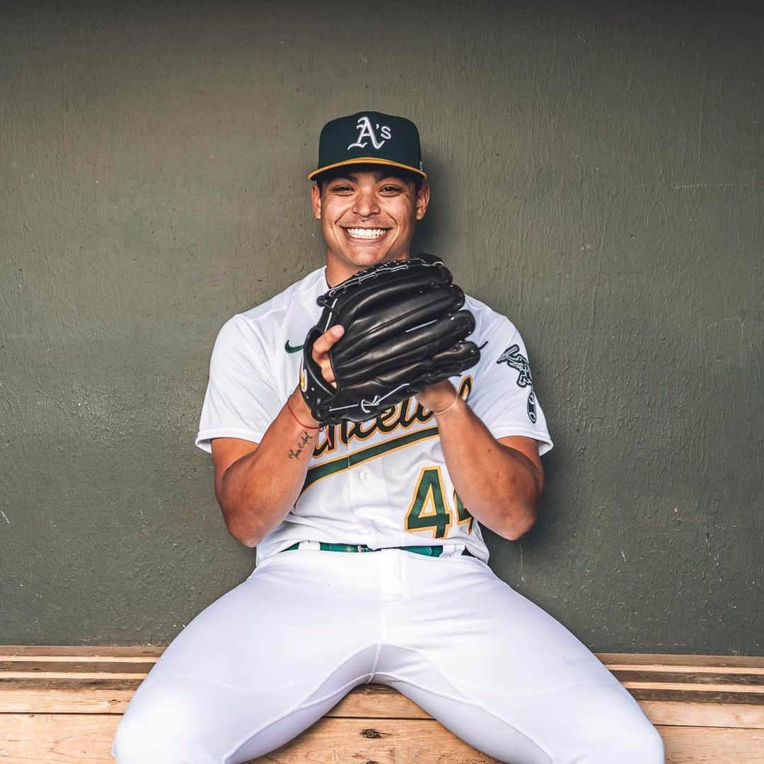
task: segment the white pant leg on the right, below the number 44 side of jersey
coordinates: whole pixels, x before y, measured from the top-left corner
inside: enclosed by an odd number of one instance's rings
[[[502,762],[664,762],[639,704],[552,616],[475,558],[401,554],[373,681]]]

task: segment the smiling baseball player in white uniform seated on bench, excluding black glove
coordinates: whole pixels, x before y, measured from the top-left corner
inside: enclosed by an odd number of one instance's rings
[[[325,265],[222,327],[196,437],[256,567],[163,652],[112,755],[245,762],[376,682],[502,762],[663,762],[629,692],[487,564],[481,526],[513,541],[533,525],[552,448],[507,317],[465,297],[480,348],[471,368],[367,421],[313,416],[303,354],[337,389],[332,348],[350,331],[332,326],[303,347],[317,299],[416,259],[429,187],[416,126],[380,112],[325,125],[309,178]]]

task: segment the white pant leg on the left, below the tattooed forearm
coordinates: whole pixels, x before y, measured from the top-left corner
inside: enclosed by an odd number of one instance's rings
[[[371,677],[374,565],[296,550],[202,610],[158,659],[112,743],[117,764],[235,764],[292,740]],[[369,555],[372,556],[372,555]]]

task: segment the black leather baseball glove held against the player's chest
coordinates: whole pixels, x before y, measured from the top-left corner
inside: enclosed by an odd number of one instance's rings
[[[465,294],[432,255],[374,265],[317,302],[324,310],[306,336],[300,389],[321,424],[373,419],[480,359],[478,346],[465,341],[475,326],[469,310],[460,310]],[[345,333],[329,350],[335,387],[312,349],[338,323]]]

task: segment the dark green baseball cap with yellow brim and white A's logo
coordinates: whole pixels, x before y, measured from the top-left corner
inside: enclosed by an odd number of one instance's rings
[[[319,138],[319,166],[308,180],[345,164],[387,164],[427,177],[416,125],[381,112],[358,112],[327,122]]]

